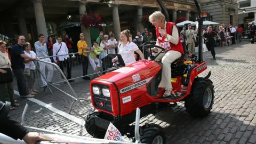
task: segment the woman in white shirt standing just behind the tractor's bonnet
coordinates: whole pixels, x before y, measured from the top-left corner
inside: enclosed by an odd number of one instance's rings
[[[144,59],[144,55],[143,53],[140,51],[139,47],[134,44],[133,42],[130,42],[130,31],[129,30],[124,30],[120,33],[120,44],[118,45],[118,51],[119,54],[121,54],[125,66],[127,65],[131,65],[132,63],[134,63],[135,57],[134,57],[134,52],[137,52],[140,55],[140,58],[143,60]],[[114,63],[115,61],[117,61],[118,58],[114,58],[112,59],[112,62]]]

